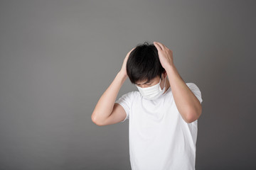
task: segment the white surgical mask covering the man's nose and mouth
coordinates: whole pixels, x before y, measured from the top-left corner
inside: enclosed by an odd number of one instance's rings
[[[161,89],[160,83],[161,83],[161,79],[160,79],[159,83],[155,84],[154,86],[149,86],[149,87],[145,87],[145,88],[139,87],[137,85],[136,86],[144,98],[149,99],[149,100],[154,100],[154,99],[158,98],[159,96],[161,96],[161,94],[164,94],[166,78],[164,79],[164,88],[163,89]]]

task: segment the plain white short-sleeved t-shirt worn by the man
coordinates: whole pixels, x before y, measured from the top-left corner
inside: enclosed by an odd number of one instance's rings
[[[186,83],[200,103],[201,91]],[[119,103],[129,119],[129,158],[132,170],[193,170],[196,164],[198,120],[186,123],[176,108],[171,87],[147,100],[139,91],[122,95]]]

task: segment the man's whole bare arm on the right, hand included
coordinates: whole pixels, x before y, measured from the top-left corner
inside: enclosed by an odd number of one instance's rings
[[[178,112],[186,123],[192,123],[202,113],[201,103],[178,74],[174,66],[173,52],[161,42],[154,42],[154,45],[158,50],[161,65],[167,72]]]

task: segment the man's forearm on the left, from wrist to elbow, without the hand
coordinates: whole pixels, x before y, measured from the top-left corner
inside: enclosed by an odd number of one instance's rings
[[[127,79],[127,75],[118,72],[110,86],[102,94],[99,101],[95,106],[95,110],[92,113],[92,120],[94,122],[104,121],[110,116],[114,107],[114,101],[117,99],[117,94]]]

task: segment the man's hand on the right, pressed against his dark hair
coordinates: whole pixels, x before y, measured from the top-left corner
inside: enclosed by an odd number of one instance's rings
[[[163,45],[161,42],[154,41],[154,45],[158,50],[159,60],[161,62],[162,67],[164,67],[164,69],[167,69],[169,67],[174,66],[174,57],[172,50]]]

